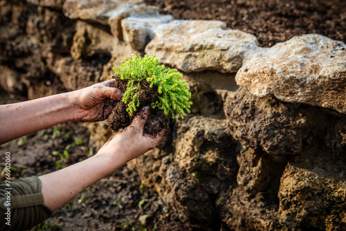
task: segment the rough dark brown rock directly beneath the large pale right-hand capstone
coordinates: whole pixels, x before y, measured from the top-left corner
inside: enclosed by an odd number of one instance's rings
[[[226,102],[230,131],[246,148],[262,149],[272,158],[300,154],[314,124],[316,109],[302,104],[257,98],[244,89]]]

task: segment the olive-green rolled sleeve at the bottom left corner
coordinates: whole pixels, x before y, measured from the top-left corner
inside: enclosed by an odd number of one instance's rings
[[[0,185],[0,230],[27,230],[51,215],[52,210],[44,205],[37,176]]]

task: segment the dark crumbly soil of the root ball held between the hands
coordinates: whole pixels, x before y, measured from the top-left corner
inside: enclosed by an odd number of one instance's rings
[[[127,88],[127,80],[121,80],[118,75],[115,77],[115,79],[116,84],[114,87],[120,89],[122,92],[125,92]],[[138,84],[138,82],[135,84]],[[129,115],[129,113],[126,111],[127,105],[122,101],[114,101],[112,103],[113,110],[111,111],[107,121],[109,130],[116,132],[121,129],[125,129],[125,127],[131,124],[134,117],[138,115],[143,107],[150,106],[152,102],[156,102],[156,100],[158,100],[158,86],[154,85],[152,88],[150,88],[149,85],[150,83],[147,81],[140,82],[140,104],[134,116]],[[158,109],[157,107],[155,109],[150,107],[149,117],[144,125],[143,134],[156,137],[161,131],[167,133],[170,129],[168,124],[169,122],[170,120],[168,116],[165,115],[162,110]]]

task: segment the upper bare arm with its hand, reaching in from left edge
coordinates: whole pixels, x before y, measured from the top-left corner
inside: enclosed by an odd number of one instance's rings
[[[120,100],[115,80],[85,89],[37,100],[0,105],[0,145],[60,122],[104,120],[111,113],[110,100]],[[4,132],[6,131],[6,132]]]

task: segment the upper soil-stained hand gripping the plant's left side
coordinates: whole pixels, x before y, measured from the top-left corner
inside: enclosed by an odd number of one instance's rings
[[[95,122],[105,120],[111,113],[111,101],[119,101],[122,91],[114,88],[116,80],[108,80],[72,91],[73,120]]]

